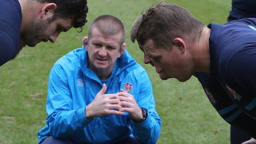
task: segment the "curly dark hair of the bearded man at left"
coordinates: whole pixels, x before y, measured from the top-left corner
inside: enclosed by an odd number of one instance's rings
[[[72,25],[75,28],[82,26],[87,22],[87,0],[36,0],[37,2],[55,3],[57,5],[54,10],[54,15],[50,19],[54,21],[56,18],[71,18],[73,19]]]

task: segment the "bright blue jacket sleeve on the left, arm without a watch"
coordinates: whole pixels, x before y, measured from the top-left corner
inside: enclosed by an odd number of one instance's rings
[[[66,72],[55,64],[50,72],[46,112],[50,135],[55,138],[69,138],[72,133],[87,126],[91,121],[85,117],[85,107],[72,108],[72,95],[69,90]]]

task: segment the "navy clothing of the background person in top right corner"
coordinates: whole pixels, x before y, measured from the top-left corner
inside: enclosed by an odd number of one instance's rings
[[[256,0],[232,0],[228,21],[242,18],[256,18]]]

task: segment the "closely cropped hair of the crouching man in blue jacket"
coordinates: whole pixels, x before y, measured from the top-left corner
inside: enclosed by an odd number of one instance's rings
[[[125,27],[121,20],[115,16],[102,15],[96,18],[88,28],[88,39],[90,39],[94,27],[96,27],[106,37],[119,34],[119,32],[121,32],[122,36],[120,39],[120,45],[126,38]]]

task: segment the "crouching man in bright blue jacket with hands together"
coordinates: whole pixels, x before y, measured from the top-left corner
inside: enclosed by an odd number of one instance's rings
[[[47,125],[39,144],[154,144],[161,120],[149,76],[123,43],[121,21],[96,18],[82,48],[60,58],[49,76]]]

